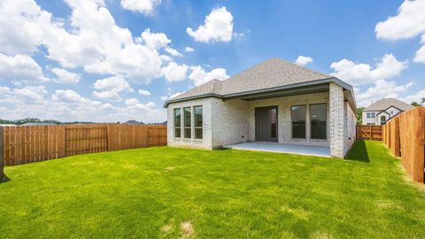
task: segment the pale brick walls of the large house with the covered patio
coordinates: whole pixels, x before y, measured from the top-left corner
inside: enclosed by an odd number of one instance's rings
[[[306,105],[306,138],[292,139],[290,107],[300,104]],[[310,138],[310,104],[327,104],[326,140]],[[197,105],[203,105],[203,140],[175,139],[174,108]],[[344,103],[343,89],[335,83],[330,83],[329,92],[300,96],[283,96],[253,101],[238,99],[223,101],[209,97],[169,104],[167,107],[168,145],[214,149],[233,143],[255,141],[255,108],[274,105],[278,106],[279,143],[330,146],[332,157],[343,158],[354,142],[355,113],[348,103]]]

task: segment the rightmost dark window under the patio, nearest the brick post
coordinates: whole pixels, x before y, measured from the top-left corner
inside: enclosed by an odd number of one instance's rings
[[[312,139],[326,139],[326,104],[310,105]]]

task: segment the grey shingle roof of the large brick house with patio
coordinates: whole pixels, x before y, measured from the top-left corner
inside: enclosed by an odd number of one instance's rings
[[[341,85],[344,89],[352,90],[352,86],[331,75],[315,72],[279,58],[270,58],[242,73],[237,73],[228,78],[228,80],[219,81],[214,79],[190,89],[179,96],[167,100],[164,106],[166,107],[167,104],[173,102],[182,102],[207,96],[226,98],[331,81]]]

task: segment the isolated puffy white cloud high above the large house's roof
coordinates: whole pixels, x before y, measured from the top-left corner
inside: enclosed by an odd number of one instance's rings
[[[214,8],[205,17],[204,25],[196,31],[188,27],[186,32],[197,42],[230,42],[233,35],[233,16],[226,7]]]

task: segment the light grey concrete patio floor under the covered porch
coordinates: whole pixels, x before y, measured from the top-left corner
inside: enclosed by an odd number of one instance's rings
[[[235,150],[259,150],[280,153],[295,153],[330,157],[330,147],[328,146],[308,146],[289,143],[269,143],[269,142],[247,142],[226,145],[224,148]]]

